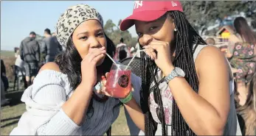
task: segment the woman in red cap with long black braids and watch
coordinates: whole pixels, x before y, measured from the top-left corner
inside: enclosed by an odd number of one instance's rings
[[[120,29],[134,24],[146,49],[141,54],[144,115],[125,107],[139,129],[145,135],[235,135],[229,63],[193,29],[180,2],[135,1]]]

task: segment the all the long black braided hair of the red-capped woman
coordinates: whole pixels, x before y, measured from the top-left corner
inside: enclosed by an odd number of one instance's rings
[[[170,11],[166,15],[170,15],[174,20],[177,31],[175,32],[175,40],[173,46],[176,48],[176,56],[173,65],[184,70],[186,76],[184,77],[193,90],[198,93],[198,77],[196,74],[195,62],[193,61],[193,52],[198,44],[205,45],[205,41],[198,35],[193,26],[187,21],[183,12]],[[195,45],[193,50],[193,45]],[[140,46],[141,47],[141,46]],[[162,104],[161,90],[159,89],[159,83],[156,82],[156,74],[158,67],[156,63],[151,60],[145,52],[141,52],[141,67],[142,67],[142,89],[140,90],[141,107],[145,114],[145,135],[155,135],[157,129],[157,123],[153,120],[151,112],[149,110],[148,98],[153,91],[153,97],[156,104],[159,105],[156,108],[156,113],[159,117],[159,121],[162,123],[162,135],[167,135],[167,127],[165,124],[164,107]],[[152,83],[155,83],[155,87],[151,87]],[[150,88],[151,87],[151,88]],[[196,135],[187,123],[179,111],[179,107],[173,99],[172,107],[172,130],[171,135]],[[169,134],[170,135],[170,134]]]

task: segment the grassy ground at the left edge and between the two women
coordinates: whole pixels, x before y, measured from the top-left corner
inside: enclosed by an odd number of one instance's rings
[[[7,78],[10,82],[10,88],[6,93],[7,99],[10,99],[10,104],[1,107],[1,135],[9,135],[12,129],[17,126],[18,120],[22,113],[26,110],[25,104],[21,103],[21,95],[23,90],[13,91],[13,71],[10,67],[15,64],[14,51],[1,51],[1,59],[4,60],[4,65],[7,71]],[[123,107],[120,107],[120,115],[117,121],[112,125],[111,135],[130,135]]]

